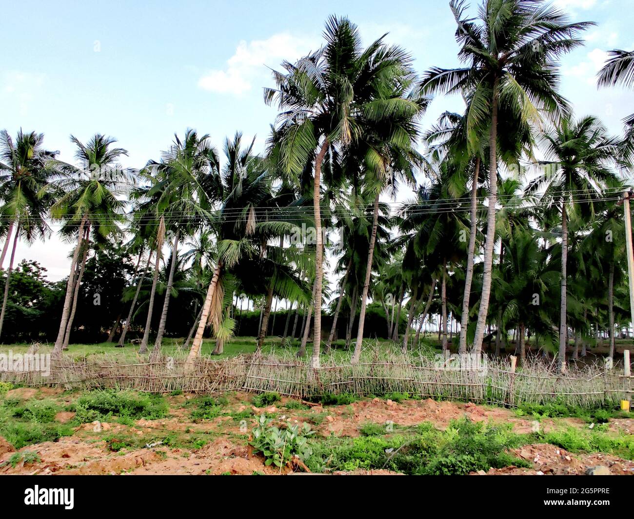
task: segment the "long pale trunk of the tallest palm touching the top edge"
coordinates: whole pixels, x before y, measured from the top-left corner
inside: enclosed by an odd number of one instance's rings
[[[480,308],[475,325],[474,353],[482,352],[482,340],[486,327],[491,297],[491,272],[493,271],[493,246],[495,245],[495,206],[498,203],[498,80],[493,82],[493,106],[491,106],[491,133],[489,134],[489,207],[486,212],[486,245],[484,245],[484,272],[482,273],[482,293]]]

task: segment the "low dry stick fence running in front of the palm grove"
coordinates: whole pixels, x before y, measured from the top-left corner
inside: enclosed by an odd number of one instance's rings
[[[50,373],[0,371],[0,381],[27,387],[56,386],[93,390],[129,388],[151,393],[175,390],[211,393],[240,390],[278,392],[298,399],[323,394],[385,395],[392,392],[437,400],[470,400],[482,404],[518,406],[562,403],[596,407],[630,399],[632,376],[623,366],[606,369],[602,364],[569,368],[557,373],[552,364],[529,359],[515,370],[508,360],[486,359],[484,367],[456,369],[439,364],[437,357],[411,354],[368,354],[362,362],[337,362],[333,357],[311,368],[287,352],[238,356],[227,359],[200,357],[187,364],[183,356],[145,357],[121,362],[107,355],[88,359],[63,356],[51,361]]]

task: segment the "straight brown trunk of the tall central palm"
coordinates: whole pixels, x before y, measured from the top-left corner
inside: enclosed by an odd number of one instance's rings
[[[328,150],[328,139],[323,139],[321,150],[315,158],[313,209],[315,219],[316,247],[315,247],[315,295],[314,295],[314,332],[313,332],[313,356],[311,366],[320,366],[321,345],[321,280],[323,278],[323,236],[321,236],[321,162]]]

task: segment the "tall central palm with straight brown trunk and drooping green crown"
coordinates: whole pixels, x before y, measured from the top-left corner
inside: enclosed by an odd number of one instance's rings
[[[323,239],[321,235],[321,167],[333,148],[346,148],[363,136],[362,119],[381,120],[389,113],[388,103],[378,99],[381,85],[391,84],[402,75],[408,56],[399,48],[385,46],[378,39],[366,49],[359,32],[347,18],[328,18],[324,30],[325,46],[292,64],[284,62],[285,74],[273,72],[275,88],[264,89],[266,103],[280,110],[281,158],[286,174],[302,176],[307,163],[313,163],[313,212],[316,234],[314,345],[311,364],[320,363],[321,285],[323,278]],[[399,106],[400,104],[400,106]],[[402,113],[406,104],[395,102]],[[408,105],[406,110],[410,110]],[[330,151],[329,151],[330,150]],[[368,162],[385,170],[377,150],[368,151]],[[377,195],[378,201],[378,195]]]

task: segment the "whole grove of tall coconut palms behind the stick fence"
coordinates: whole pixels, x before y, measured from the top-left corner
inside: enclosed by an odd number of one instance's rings
[[[314,367],[342,311],[348,345],[358,314],[352,361],[359,361],[370,298],[384,308],[386,336],[404,350],[438,315],[443,349],[455,319],[460,352],[481,352],[488,337],[499,354],[513,331],[522,359],[533,336],[559,348],[565,369],[571,334],[578,356],[607,330],[613,355],[615,319],[628,323],[619,206],[627,188],[619,172],[633,157],[634,116],[613,137],[595,117],[576,118],[559,93],[558,60],[593,24],[533,0],[485,0],[474,17],[463,1],[450,8],[463,67],[421,76],[404,49],[383,38],[364,47],[353,23],[331,16],[323,46],[282,63],[264,89],[279,115],[261,155],[236,133],[222,157],[209,136],[188,130],[159,161],[131,170],[120,165],[126,150],[97,134],[86,144],[72,137],[78,165],[70,165],[44,150],[41,134],[19,132],[14,142],[4,131],[0,262],[12,248],[0,334],[16,242],[48,237],[54,221],[75,241],[56,354],[68,347],[89,253],[118,240],[137,257],[119,345],[150,274],[140,352],[148,350],[162,259],[167,266],[151,359],[178,296],[175,273],[186,265],[200,296],[186,340],[190,361],[209,325],[214,352],[223,351],[236,331],[238,294],[261,300],[258,349],[274,299],[304,309],[300,354],[313,330]],[[613,51],[598,84],[632,86],[634,54]],[[464,111],[422,129],[432,96],[455,93]],[[415,199],[392,210],[381,196],[403,184]],[[333,228],[339,243],[324,232]],[[328,264],[340,274],[335,288]],[[322,352],[323,297],[331,290]]]

